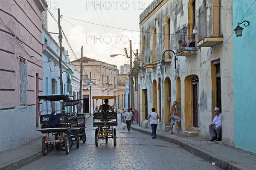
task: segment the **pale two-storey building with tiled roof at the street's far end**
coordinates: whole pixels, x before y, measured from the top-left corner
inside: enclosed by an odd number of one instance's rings
[[[92,100],[90,102],[92,96],[115,95],[117,102],[116,109],[122,108],[125,101],[126,88],[123,83],[119,83],[119,70],[117,69],[117,66],[96,59],[83,57],[82,59],[77,59],[71,62],[78,70],[81,68],[80,60],[83,62],[83,77],[87,77],[87,80],[84,82],[95,81],[95,85],[91,86],[91,96],[89,91],[90,86],[83,84],[83,102],[84,105],[89,106],[88,111],[91,111],[89,113],[93,113],[95,109],[92,108]],[[103,104],[103,100],[100,102],[100,105],[101,104]],[[110,101],[109,105],[113,105],[113,101]]]

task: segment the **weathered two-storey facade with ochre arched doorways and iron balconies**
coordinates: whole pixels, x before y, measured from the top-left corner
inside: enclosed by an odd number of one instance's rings
[[[222,142],[234,145],[233,13],[228,2],[224,8],[221,0],[154,0],[140,14],[141,125],[150,127],[146,117],[154,107],[161,118],[158,129],[169,130],[169,102],[176,100],[181,130],[175,133],[208,137],[217,106]],[[160,66],[162,59],[165,65]]]

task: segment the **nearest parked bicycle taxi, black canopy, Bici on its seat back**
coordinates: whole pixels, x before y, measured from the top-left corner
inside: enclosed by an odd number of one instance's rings
[[[79,127],[71,127],[69,115],[64,108],[64,103],[71,99],[68,95],[38,95],[38,108],[40,117],[40,129],[44,134],[42,138],[42,153],[44,156],[48,153],[48,147],[56,150],[65,150],[69,154],[73,140],[70,136],[71,130],[80,130]],[[43,100],[43,101],[41,101]],[[59,109],[59,110],[57,110]],[[50,136],[52,134],[52,136]],[[76,143],[79,143],[79,137],[76,137]]]

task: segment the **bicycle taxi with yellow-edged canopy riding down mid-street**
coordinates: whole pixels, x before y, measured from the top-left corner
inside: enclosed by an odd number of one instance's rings
[[[94,104],[98,108],[98,100],[102,103],[102,100],[105,99],[113,99],[113,105],[116,108],[116,96],[93,96],[93,108]],[[108,143],[109,138],[113,139],[113,144],[116,146],[116,128],[113,128],[113,126],[117,126],[117,113],[114,108],[107,111],[96,109],[93,113],[93,127],[97,127],[95,129],[96,146],[99,144],[99,139],[105,140]]]

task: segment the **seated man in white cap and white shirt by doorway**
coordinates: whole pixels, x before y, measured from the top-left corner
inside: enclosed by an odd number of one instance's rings
[[[210,137],[212,137],[210,141],[221,141],[221,111],[217,107],[215,107],[214,111],[216,116],[214,117],[212,123],[209,125]]]

